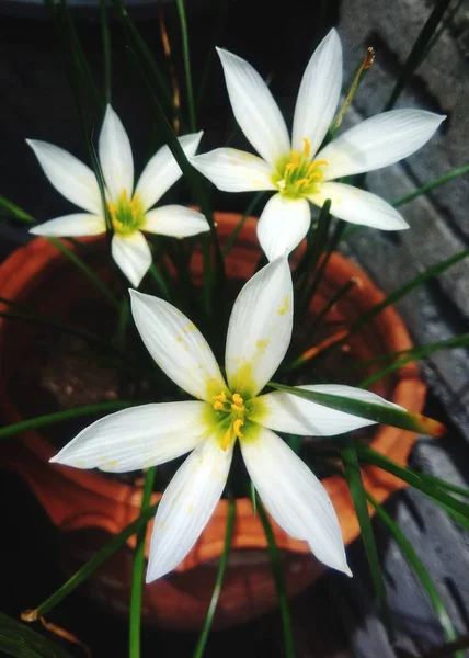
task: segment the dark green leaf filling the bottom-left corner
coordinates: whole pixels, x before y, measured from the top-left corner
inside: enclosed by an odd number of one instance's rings
[[[0,612],[0,651],[14,658],[71,658],[59,645]]]

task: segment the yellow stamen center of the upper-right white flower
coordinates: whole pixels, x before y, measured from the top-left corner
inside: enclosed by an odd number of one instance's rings
[[[323,168],[327,160],[310,160],[311,145],[302,138],[302,152],[290,150],[289,156],[281,158],[272,177],[274,185],[285,198],[302,198],[318,192],[323,179]]]

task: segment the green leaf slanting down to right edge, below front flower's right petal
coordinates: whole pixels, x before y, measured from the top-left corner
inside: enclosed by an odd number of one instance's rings
[[[376,450],[365,445],[358,445],[357,452],[361,462],[373,464],[384,470],[394,475],[399,479],[408,483],[415,489],[419,489],[434,502],[438,503],[446,512],[448,512],[460,525],[469,530],[469,504],[460,501],[459,499],[449,496],[444,491],[441,486],[436,486],[434,483],[428,481],[426,478],[421,477],[419,473],[415,473],[411,468],[405,468],[400,464],[397,464],[392,460],[385,457]]]

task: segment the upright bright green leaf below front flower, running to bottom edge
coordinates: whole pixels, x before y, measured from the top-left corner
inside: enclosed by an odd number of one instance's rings
[[[152,466],[147,470],[147,474],[145,476],[145,486],[141,495],[140,515],[145,514],[150,507],[156,470],[156,466]],[[131,570],[130,612],[128,621],[129,658],[140,658],[141,588],[144,586],[146,533],[147,523],[144,523],[137,532],[137,544],[135,547],[134,566]]]

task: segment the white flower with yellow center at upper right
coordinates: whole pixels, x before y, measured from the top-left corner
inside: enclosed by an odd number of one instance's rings
[[[302,77],[291,141],[284,118],[260,75],[244,59],[218,48],[236,120],[261,157],[217,148],[191,158],[219,190],[273,190],[258,237],[270,260],[291,251],[310,225],[308,201],[353,224],[384,230],[409,228],[379,196],[331,182],[398,162],[423,146],[445,118],[420,110],[378,114],[346,131],[319,152],[334,118],[342,84],[342,47],[332,30],[313,53]]]

